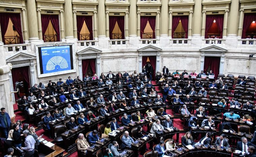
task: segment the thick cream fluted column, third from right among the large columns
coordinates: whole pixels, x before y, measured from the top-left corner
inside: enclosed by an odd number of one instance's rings
[[[160,36],[168,36],[167,28],[168,28],[168,0],[162,0],[162,8],[161,8],[161,35]]]

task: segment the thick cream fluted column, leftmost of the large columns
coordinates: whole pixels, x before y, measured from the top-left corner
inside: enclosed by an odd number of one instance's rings
[[[38,40],[38,24],[35,0],[27,0],[29,40]]]

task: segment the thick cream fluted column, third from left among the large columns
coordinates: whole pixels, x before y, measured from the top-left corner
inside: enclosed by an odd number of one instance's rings
[[[106,37],[105,1],[98,1],[99,37]]]

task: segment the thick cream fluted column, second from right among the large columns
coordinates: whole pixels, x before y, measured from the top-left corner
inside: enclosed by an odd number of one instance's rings
[[[195,0],[194,18],[193,18],[193,36],[200,37],[201,31],[201,13],[202,13],[202,0]]]

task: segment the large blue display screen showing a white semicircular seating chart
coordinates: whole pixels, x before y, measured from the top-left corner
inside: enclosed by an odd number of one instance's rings
[[[40,73],[54,73],[73,69],[72,46],[38,48]]]

